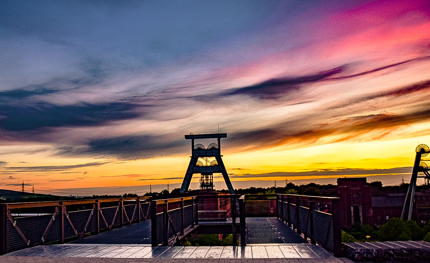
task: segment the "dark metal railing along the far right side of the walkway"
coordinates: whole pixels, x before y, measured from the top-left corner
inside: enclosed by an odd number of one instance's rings
[[[319,243],[335,257],[342,254],[339,198],[278,194],[277,214],[282,221]]]

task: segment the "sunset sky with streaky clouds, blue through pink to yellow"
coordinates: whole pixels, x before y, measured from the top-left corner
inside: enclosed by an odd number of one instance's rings
[[[399,184],[430,145],[427,0],[4,0],[0,54],[2,189],[178,187],[218,125],[235,188]]]

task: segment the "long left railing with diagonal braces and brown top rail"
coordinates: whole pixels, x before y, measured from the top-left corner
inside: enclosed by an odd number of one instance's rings
[[[149,201],[129,197],[0,204],[0,254],[138,223],[149,217]]]

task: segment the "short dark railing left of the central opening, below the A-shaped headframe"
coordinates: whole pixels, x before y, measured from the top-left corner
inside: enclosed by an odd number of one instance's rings
[[[197,224],[196,196],[151,201],[151,245],[172,246]]]

